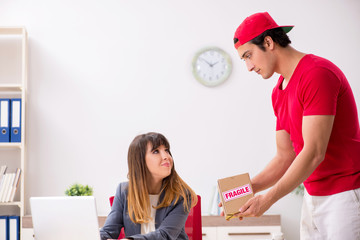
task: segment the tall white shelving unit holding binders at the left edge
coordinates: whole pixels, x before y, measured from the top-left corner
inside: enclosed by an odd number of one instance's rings
[[[21,142],[0,143],[0,166],[21,169],[15,201],[0,203],[1,215],[25,215],[27,32],[24,27],[0,27],[0,98],[21,98]],[[10,213],[9,213],[10,212]],[[20,220],[21,226],[21,220]],[[21,229],[21,228],[20,228]]]

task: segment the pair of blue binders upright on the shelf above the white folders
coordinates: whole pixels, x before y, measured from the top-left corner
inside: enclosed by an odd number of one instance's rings
[[[21,142],[21,98],[0,98],[0,142]]]

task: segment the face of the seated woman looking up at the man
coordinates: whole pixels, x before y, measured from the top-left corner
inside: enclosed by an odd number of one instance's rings
[[[170,151],[164,145],[152,149],[152,144],[148,143],[145,162],[147,169],[154,180],[162,180],[169,176],[173,167],[173,159],[170,155]]]

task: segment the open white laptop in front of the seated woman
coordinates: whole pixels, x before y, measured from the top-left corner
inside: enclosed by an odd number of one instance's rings
[[[36,240],[100,240],[95,198],[31,197]]]

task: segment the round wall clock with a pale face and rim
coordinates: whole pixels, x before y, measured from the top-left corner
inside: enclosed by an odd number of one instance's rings
[[[195,78],[208,87],[214,87],[229,78],[232,70],[230,56],[220,48],[205,48],[195,54],[193,62]]]

